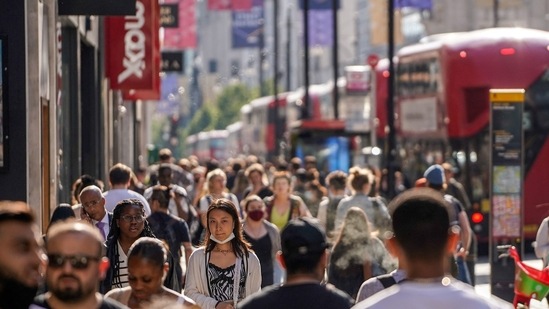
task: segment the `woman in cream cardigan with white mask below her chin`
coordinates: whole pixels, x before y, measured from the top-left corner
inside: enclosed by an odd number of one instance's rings
[[[261,289],[261,266],[242,236],[236,206],[214,200],[206,212],[206,238],[189,259],[185,295],[203,309],[233,309]]]

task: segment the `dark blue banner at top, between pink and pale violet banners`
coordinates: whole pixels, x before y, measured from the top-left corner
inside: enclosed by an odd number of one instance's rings
[[[232,47],[259,47],[263,34],[263,0],[253,0],[248,12],[232,12]]]

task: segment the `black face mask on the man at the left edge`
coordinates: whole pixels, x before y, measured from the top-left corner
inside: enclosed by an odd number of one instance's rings
[[[0,275],[0,309],[28,309],[37,291],[38,287]]]

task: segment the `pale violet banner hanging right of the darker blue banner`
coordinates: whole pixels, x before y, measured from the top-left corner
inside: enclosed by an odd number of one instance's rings
[[[310,10],[309,46],[331,47],[334,44],[333,24],[331,10]]]

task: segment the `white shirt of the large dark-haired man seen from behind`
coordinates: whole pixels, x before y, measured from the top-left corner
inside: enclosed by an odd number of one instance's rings
[[[441,282],[423,283],[411,280],[401,282],[353,307],[353,309],[363,308],[505,309],[513,308],[513,305],[495,297],[486,299],[477,294],[470,285],[452,278],[447,285]]]

